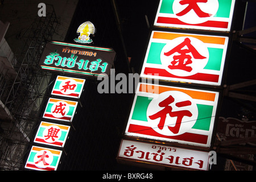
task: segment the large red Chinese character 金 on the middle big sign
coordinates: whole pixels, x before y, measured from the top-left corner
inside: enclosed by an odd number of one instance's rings
[[[188,49],[183,49],[187,46]],[[205,59],[206,57],[200,55],[200,53],[196,50],[195,47],[192,46],[191,40],[189,38],[185,38],[184,42],[171,49],[168,52],[164,52],[165,56],[171,56],[173,53],[179,53],[180,55],[175,55],[173,57],[173,61],[171,61],[171,65],[168,65],[170,69],[181,69],[187,72],[192,71],[192,67],[189,67],[188,64],[192,63],[191,56],[188,53],[192,53],[194,59]]]

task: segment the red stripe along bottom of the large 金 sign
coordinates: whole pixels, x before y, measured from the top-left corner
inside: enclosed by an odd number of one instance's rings
[[[144,74],[158,75],[158,76],[171,77],[171,78],[183,78],[188,80],[210,81],[210,82],[218,82],[218,78],[219,78],[218,75],[212,75],[207,73],[196,73],[195,75],[192,75],[192,76],[176,76],[167,72],[165,69],[159,69],[159,68],[145,68]]]

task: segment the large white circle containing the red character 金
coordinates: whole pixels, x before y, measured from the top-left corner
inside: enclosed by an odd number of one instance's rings
[[[207,65],[209,51],[201,40],[182,36],[163,47],[160,60],[164,69],[172,75],[191,76]]]

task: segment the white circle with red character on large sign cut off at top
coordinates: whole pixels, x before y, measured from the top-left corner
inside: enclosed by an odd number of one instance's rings
[[[218,0],[175,0],[172,10],[181,22],[189,24],[204,23],[218,11]]]

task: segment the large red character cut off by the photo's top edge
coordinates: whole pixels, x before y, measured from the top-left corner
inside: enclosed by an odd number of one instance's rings
[[[200,18],[210,17],[212,14],[205,13],[200,9],[200,7],[197,5],[197,3],[206,3],[207,0],[182,0],[180,1],[180,5],[188,5],[184,10],[180,11],[180,13],[177,13],[177,16],[183,16],[187,14],[189,11],[194,10],[196,15]]]

